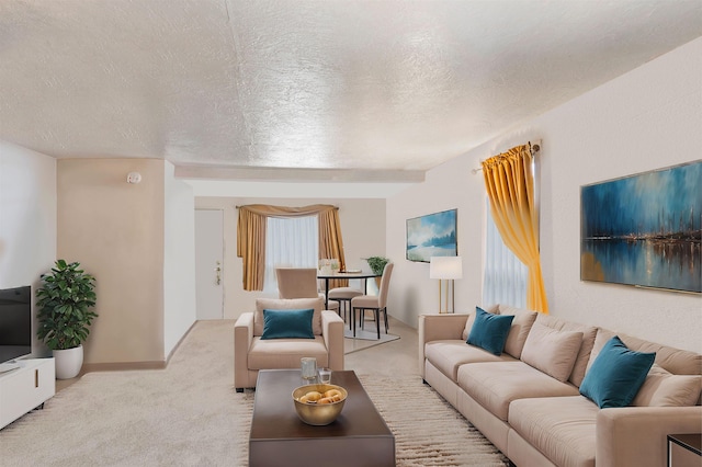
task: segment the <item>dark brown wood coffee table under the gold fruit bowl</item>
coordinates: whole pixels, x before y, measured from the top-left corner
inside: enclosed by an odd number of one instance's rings
[[[299,369],[259,372],[249,435],[249,466],[394,466],[395,436],[355,373],[333,372],[331,384],[349,392],[339,418],[326,426],[297,417],[292,392]]]

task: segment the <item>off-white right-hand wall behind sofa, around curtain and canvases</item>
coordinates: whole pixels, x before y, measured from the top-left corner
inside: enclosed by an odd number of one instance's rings
[[[702,297],[580,281],[580,186],[700,159],[702,38],[601,86],[431,170],[427,182],[387,201],[387,252],[405,248],[405,219],[458,208],[462,280],[456,309],[480,305],[485,190],[479,161],[529,140],[541,155],[541,252],[551,312],[702,352]],[[435,311],[427,264],[401,261],[390,314],[416,326]]]

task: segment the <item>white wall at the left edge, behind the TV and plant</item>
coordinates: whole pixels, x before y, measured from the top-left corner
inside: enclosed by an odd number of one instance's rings
[[[0,288],[41,285],[56,259],[56,160],[0,141]],[[32,330],[36,335],[36,319]],[[36,337],[33,356],[48,354]]]

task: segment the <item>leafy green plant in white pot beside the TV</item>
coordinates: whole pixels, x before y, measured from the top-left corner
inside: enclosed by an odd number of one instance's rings
[[[98,317],[91,310],[95,306],[95,278],[77,262],[57,260],[52,272],[42,274],[41,280],[42,286],[36,291],[36,335],[54,353],[56,378],[73,378],[83,364],[82,343]]]

